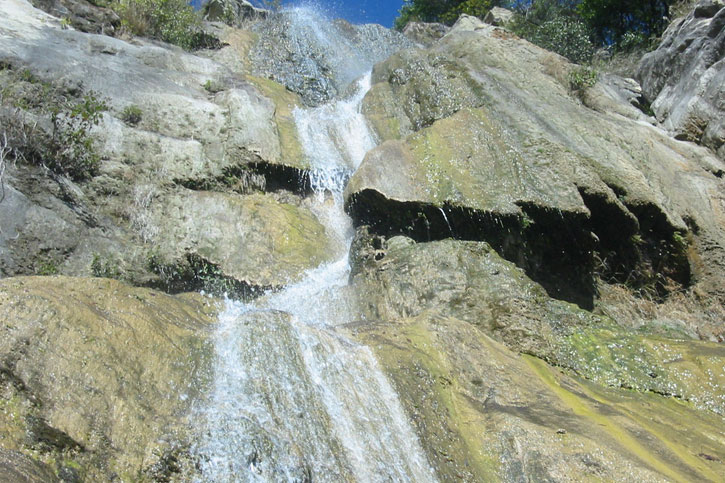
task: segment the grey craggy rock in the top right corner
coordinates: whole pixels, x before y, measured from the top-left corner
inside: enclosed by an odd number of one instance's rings
[[[702,0],[665,31],[637,77],[657,120],[725,159],[725,3]]]

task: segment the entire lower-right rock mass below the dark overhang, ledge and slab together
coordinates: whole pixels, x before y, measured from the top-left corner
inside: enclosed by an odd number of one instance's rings
[[[552,300],[482,242],[394,237],[375,256],[354,253],[352,286],[368,322],[351,330],[375,349],[442,480],[708,480],[722,471],[725,448],[706,442],[707,421],[725,411],[720,344],[633,334]],[[680,430],[717,460],[693,457]]]

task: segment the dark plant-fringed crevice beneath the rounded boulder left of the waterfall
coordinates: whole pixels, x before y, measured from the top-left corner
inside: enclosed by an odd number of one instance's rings
[[[170,294],[204,291],[233,300],[252,300],[278,287],[260,286],[226,275],[216,264],[196,253],[168,262],[156,255],[149,257],[148,268],[158,275],[147,286]]]

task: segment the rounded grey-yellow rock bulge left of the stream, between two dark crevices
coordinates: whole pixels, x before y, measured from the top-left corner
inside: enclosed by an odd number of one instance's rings
[[[151,207],[162,260],[202,257],[250,287],[280,287],[330,257],[325,228],[311,211],[270,194],[177,190]]]

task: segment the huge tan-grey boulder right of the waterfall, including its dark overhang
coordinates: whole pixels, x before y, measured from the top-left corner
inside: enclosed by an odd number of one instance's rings
[[[665,291],[665,280],[701,282],[721,297],[720,276],[679,241],[699,233],[722,266],[725,225],[710,200],[723,163],[616,109],[586,108],[575,69],[472,17],[378,64],[363,109],[385,142],[347,187],[353,219],[418,241],[486,240],[582,307],[599,270]]]

